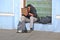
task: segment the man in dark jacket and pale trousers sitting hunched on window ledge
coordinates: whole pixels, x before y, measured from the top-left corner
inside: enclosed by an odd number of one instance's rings
[[[35,21],[37,21],[36,9],[31,4],[28,4],[26,8],[27,8],[27,11],[28,11],[28,15],[27,16],[22,15],[21,23],[24,27],[25,22],[27,22],[27,21],[30,22],[30,31],[33,31],[33,24],[34,24]],[[19,32],[22,32],[22,30],[20,30]]]

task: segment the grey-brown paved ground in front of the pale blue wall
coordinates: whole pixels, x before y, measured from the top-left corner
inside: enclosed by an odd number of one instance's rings
[[[0,40],[60,40],[60,33],[44,31],[16,33],[16,30],[0,30]]]

